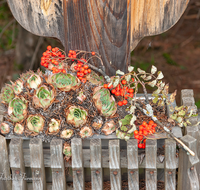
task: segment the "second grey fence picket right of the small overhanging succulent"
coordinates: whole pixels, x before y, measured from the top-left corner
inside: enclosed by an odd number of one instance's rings
[[[101,139],[90,141],[90,168],[93,190],[103,190]]]

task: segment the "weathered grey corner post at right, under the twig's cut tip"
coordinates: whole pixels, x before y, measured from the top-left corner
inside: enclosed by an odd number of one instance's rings
[[[187,155],[183,149],[180,149],[178,190],[199,190],[199,180],[196,171],[196,165],[199,163],[197,157],[197,140],[190,135],[185,135],[181,140],[195,152],[195,156]]]

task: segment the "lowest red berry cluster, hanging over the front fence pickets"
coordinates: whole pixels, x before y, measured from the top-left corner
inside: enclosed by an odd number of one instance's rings
[[[153,134],[156,132],[157,124],[154,123],[153,120],[147,122],[143,121],[142,125],[139,126],[139,131],[134,131],[134,137],[138,140],[138,148],[145,148],[146,146],[146,139],[145,136],[149,134]]]

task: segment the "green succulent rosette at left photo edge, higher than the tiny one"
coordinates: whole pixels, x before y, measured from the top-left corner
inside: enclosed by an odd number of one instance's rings
[[[15,97],[14,91],[11,85],[6,84],[1,90],[0,98],[3,103],[9,103]]]

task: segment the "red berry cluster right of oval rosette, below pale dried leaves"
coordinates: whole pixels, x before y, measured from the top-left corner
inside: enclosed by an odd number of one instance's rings
[[[134,82],[134,78],[132,78],[132,81]],[[126,105],[128,103],[126,99],[128,99],[128,97],[133,98],[133,95],[134,95],[133,94],[134,90],[132,88],[128,88],[126,80],[122,80],[121,84],[118,84],[116,88],[113,88],[113,85],[109,85],[109,84],[104,84],[104,88],[112,89],[111,90],[112,94],[114,94],[115,96],[121,96],[124,98],[123,101],[118,102],[119,106]]]

